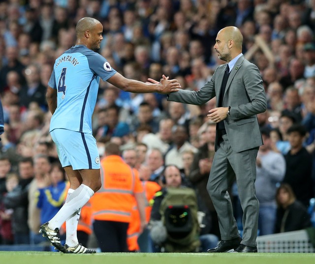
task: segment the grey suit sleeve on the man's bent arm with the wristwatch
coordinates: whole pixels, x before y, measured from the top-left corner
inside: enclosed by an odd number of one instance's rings
[[[251,63],[246,66],[243,80],[249,103],[231,107],[231,119],[245,118],[267,110],[266,93],[256,65]]]

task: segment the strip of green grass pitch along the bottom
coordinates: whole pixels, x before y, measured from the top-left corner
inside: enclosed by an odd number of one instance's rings
[[[0,264],[315,264],[311,253],[96,253],[0,251]]]

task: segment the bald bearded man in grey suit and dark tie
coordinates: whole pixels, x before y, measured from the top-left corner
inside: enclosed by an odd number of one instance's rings
[[[202,105],[217,96],[217,108],[208,114],[217,129],[207,189],[218,213],[222,240],[208,252],[257,252],[259,203],[254,183],[257,152],[263,142],[256,115],[266,111],[267,100],[258,68],[242,54],[242,42],[238,28],[221,29],[214,49],[227,64],[219,66],[199,91],[179,90],[168,97],[169,101]],[[243,239],[227,192],[234,176],[243,208]]]

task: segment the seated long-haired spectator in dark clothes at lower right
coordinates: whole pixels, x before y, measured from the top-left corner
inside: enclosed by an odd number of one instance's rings
[[[278,204],[275,233],[283,233],[310,227],[310,215],[307,208],[295,198],[288,184],[282,184],[276,193]]]

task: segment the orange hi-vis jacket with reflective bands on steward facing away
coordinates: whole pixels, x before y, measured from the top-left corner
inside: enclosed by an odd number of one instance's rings
[[[90,199],[93,219],[130,223],[133,194],[143,192],[139,177],[118,155],[103,158],[100,171],[102,187]]]

